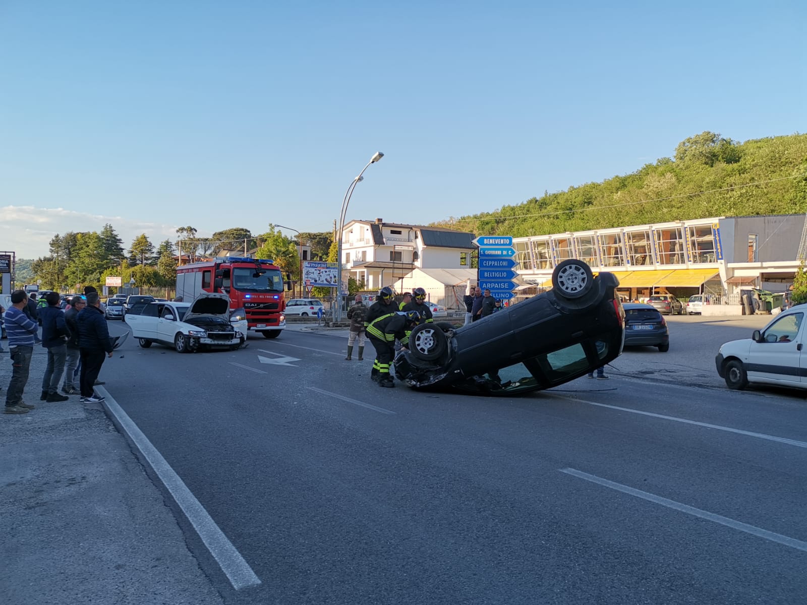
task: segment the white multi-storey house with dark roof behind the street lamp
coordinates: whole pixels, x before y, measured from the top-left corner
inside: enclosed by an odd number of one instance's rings
[[[473,239],[440,227],[353,220],[342,232],[342,266],[367,290],[378,290],[413,269],[470,269]]]

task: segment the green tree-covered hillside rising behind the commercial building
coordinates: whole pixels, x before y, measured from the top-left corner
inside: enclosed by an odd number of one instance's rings
[[[807,135],[738,143],[703,132],[681,141],[673,157],[634,173],[435,224],[518,237],[711,216],[804,212]]]

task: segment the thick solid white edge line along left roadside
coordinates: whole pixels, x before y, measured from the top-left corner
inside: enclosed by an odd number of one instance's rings
[[[196,499],[196,496],[188,489],[188,486],[185,485],[185,482],[176,474],[168,462],[165,461],[165,458],[148,440],[148,437],[140,431],[140,428],[123,411],[123,408],[112,398],[109,391],[101,386],[96,387],[96,389],[105,395],[104,406],[107,407],[111,414],[115,415],[120,426],[127,432],[129,439],[140,449],[140,453],[143,454],[148,464],[157,473],[157,477],[161,479],[179,507],[182,508],[182,512],[185,513],[196,533],[202,538],[204,545],[207,546],[215,561],[220,565],[221,570],[227,575],[232,587],[240,590],[246,586],[260,584],[261,580],[257,578],[257,575],[244,560],[244,557],[241,557],[236,547],[232,545],[224,532],[211,519],[202,503]]]

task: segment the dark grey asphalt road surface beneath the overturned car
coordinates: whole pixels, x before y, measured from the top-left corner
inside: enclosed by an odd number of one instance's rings
[[[102,377],[260,579],[174,507],[227,603],[803,603],[804,394],[721,387],[705,340],[770,318],[706,319],[523,398],[380,389],[371,347],[291,331]]]

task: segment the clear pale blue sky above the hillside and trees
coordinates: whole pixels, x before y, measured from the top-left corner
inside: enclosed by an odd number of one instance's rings
[[[807,130],[807,3],[0,0],[0,249],[428,223]],[[293,233],[289,232],[289,235]]]

